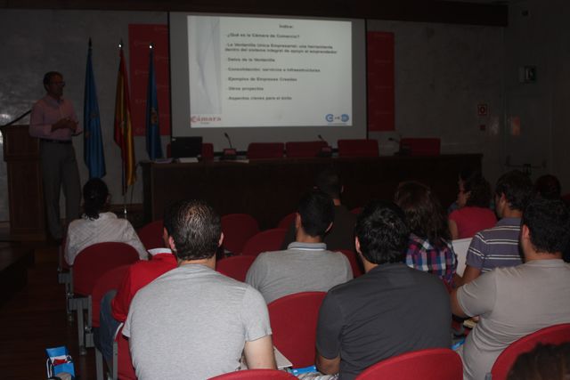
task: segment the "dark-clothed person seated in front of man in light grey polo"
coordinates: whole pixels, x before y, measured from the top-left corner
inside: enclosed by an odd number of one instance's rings
[[[335,204],[335,220],[332,228],[324,236],[324,242],[331,251],[347,249],[354,252],[354,223],[356,215],[340,203],[343,186],[338,174],[332,169],[323,170],[315,179],[314,188],[329,194]],[[287,249],[295,241],[295,223],[292,223],[285,235],[281,249]]]

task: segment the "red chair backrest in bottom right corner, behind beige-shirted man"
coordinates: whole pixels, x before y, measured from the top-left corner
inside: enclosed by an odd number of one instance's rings
[[[536,344],[563,344],[570,342],[570,323],[544,327],[509,344],[495,360],[491,374],[493,380],[505,380],[518,355],[532,351]]]

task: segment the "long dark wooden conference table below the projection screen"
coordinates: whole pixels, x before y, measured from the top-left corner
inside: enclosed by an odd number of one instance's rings
[[[262,230],[295,211],[313,188],[315,176],[333,168],[340,176],[342,202],[349,209],[372,198],[392,199],[398,183],[427,184],[444,207],[457,197],[461,169],[481,169],[481,154],[386,156],[378,158],[279,158],[196,163],[142,162],[145,222],[162,219],[179,199],[208,201],[219,214],[253,215]]]

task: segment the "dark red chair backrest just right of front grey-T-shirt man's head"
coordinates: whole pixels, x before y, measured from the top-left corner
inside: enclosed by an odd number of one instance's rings
[[[224,248],[234,255],[240,255],[246,241],[259,232],[259,224],[249,214],[227,214],[222,216],[222,232]]]

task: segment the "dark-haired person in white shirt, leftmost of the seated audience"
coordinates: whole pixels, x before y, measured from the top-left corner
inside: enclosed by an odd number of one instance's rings
[[[117,241],[133,246],[141,260],[148,254],[142,246],[136,231],[126,219],[118,219],[116,214],[102,210],[109,206],[109,190],[105,182],[94,178],[83,186],[85,214],[81,219],[69,223],[65,244],[65,261],[73,265],[75,258],[85,247],[95,243]]]

